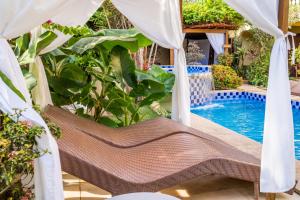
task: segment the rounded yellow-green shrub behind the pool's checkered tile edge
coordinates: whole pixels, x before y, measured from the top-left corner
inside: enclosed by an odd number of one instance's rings
[[[229,66],[214,65],[212,68],[215,89],[236,89],[242,84],[242,78]]]

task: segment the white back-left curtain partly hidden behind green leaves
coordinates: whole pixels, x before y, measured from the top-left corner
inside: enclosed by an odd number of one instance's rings
[[[50,20],[64,26],[84,25],[93,13],[101,6],[103,1],[104,0],[88,0],[85,1],[84,4],[73,4],[71,9],[57,14]],[[31,32],[32,36],[37,38],[41,34],[41,31],[40,27],[35,28]],[[65,35],[59,31],[55,31],[55,33],[57,34],[57,38],[41,51],[41,55],[58,48],[72,37],[71,35]],[[41,109],[45,108],[49,104],[53,105],[44,65],[40,56],[36,57],[35,63],[30,66],[30,70],[37,79],[37,85],[32,90],[33,101],[38,104]]]

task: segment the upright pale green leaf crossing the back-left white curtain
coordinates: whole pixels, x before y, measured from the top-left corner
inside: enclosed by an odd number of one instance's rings
[[[51,42],[53,42],[56,38],[57,35],[52,31],[46,31],[41,34],[37,40],[33,42],[19,57],[20,65],[33,63],[35,61],[35,57],[40,53],[40,51],[51,44]]]

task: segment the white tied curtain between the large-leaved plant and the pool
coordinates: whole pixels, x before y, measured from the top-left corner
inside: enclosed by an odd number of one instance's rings
[[[172,118],[190,125],[190,95],[185,52],[182,47],[178,0],[112,0],[145,36],[158,45],[174,49],[176,83],[173,89]]]

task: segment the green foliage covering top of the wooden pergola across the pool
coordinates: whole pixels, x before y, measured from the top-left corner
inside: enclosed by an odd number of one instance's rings
[[[243,17],[223,0],[184,1],[182,15],[184,24],[225,23],[239,26]]]

